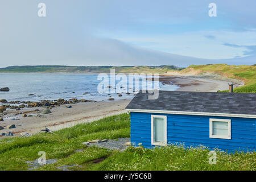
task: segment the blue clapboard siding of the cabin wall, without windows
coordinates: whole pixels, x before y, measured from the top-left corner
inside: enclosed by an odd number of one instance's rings
[[[167,142],[185,146],[203,145],[210,149],[253,151],[256,145],[256,119],[201,115],[131,112],[131,142],[151,148],[151,114],[167,115]],[[231,119],[231,139],[209,138],[209,119]]]

